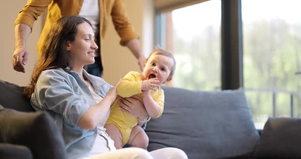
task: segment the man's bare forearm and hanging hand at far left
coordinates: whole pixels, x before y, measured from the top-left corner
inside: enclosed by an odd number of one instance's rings
[[[14,70],[25,73],[24,65],[26,65],[29,52],[26,48],[26,42],[31,33],[31,28],[27,24],[17,24],[15,27],[15,50],[12,57],[12,65]]]

